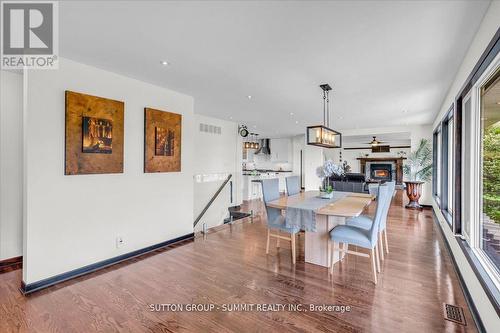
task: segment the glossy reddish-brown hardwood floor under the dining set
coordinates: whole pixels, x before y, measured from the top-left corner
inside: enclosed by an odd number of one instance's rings
[[[348,256],[333,276],[305,264],[303,235],[295,266],[288,242],[279,250],[271,243],[266,256],[264,215],[26,297],[18,291],[20,270],[2,274],[0,332],[475,332],[432,212],[404,209],[401,198],[389,212],[390,253],[376,286],[368,258]],[[260,201],[244,208],[263,212]],[[351,311],[150,311],[156,303],[337,304]],[[467,326],[445,320],[443,303],[463,307]]]

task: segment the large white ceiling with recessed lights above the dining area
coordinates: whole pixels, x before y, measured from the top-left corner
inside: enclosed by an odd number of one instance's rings
[[[60,52],[189,94],[196,113],[263,136],[320,123],[325,82],[332,128],[429,124],[488,6],[69,1],[60,3]]]

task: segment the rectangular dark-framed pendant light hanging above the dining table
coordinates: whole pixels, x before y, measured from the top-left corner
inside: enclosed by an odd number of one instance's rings
[[[329,84],[322,84],[320,88],[323,90],[323,125],[307,127],[307,144],[323,148],[341,148],[342,134],[330,128],[329,92],[332,87]]]

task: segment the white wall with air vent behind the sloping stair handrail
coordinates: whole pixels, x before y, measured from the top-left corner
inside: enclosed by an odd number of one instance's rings
[[[233,202],[230,200],[230,186],[227,184],[198,223],[195,229],[198,231],[201,230],[203,223],[206,223],[208,228],[222,224],[224,218],[229,215],[228,207],[241,204],[242,149],[238,124],[202,115],[195,115],[194,121],[193,209],[195,218],[223,183],[226,175],[233,175],[231,178]],[[221,134],[201,132],[200,123],[221,127]],[[204,179],[208,181],[203,181]]]

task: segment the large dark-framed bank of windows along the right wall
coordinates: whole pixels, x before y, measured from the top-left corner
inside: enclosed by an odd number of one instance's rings
[[[456,96],[454,111],[434,132],[433,193],[467,262],[500,313],[499,50],[500,30]]]

